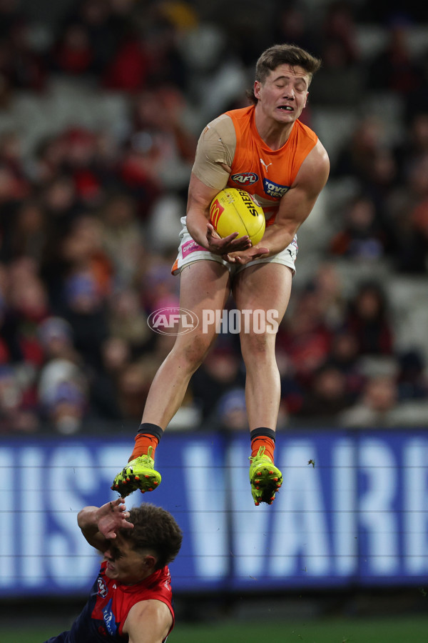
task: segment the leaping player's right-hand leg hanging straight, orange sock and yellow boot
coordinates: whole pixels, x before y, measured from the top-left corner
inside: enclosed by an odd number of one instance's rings
[[[271,504],[282,484],[282,474],[273,464],[281,395],[275,341],[277,325],[290,299],[291,282],[289,267],[265,263],[241,271],[233,283],[241,311],[240,343],[247,373],[245,399],[252,447],[250,483],[255,504]]]

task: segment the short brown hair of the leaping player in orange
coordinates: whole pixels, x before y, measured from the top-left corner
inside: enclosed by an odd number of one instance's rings
[[[273,45],[269,49],[265,49],[263,54],[260,55],[255,65],[255,80],[263,84],[270,72],[274,71],[279,65],[302,67],[309,76],[310,82],[312,76],[320,69],[321,60],[297,45]],[[253,89],[247,91],[247,97],[253,104],[257,104],[258,99],[256,99]]]

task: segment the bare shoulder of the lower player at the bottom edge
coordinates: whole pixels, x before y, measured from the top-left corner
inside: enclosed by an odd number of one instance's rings
[[[172,624],[173,617],[165,603],[141,601],[129,610],[123,633],[128,634],[129,643],[162,643]]]

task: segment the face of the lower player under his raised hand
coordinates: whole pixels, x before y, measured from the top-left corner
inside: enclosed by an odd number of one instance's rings
[[[141,582],[153,572],[153,556],[131,549],[131,543],[120,536],[110,541],[104,552],[106,575],[126,585]]]

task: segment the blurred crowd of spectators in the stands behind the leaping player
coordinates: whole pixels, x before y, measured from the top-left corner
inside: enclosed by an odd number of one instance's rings
[[[1,432],[138,426],[174,341],[147,321],[178,306],[170,268],[198,132],[246,104],[258,55],[280,41],[323,60],[307,124],[320,107],[360,111],[332,158],[330,181],[351,180],[352,194],[331,212],[320,260],[300,249],[297,271],[312,262],[312,277],[278,333],[279,428],[427,424],[424,351],[397,347],[375,271],[348,294],[337,267],[386,261],[391,274],[428,276],[428,44],[415,55],[408,39],[428,15],[400,4],[326,2],[314,19],[310,2],[272,0],[258,21],[235,1],[225,24],[190,0],[82,0],[41,38],[19,0],[0,0]],[[387,34],[368,58],[365,24]],[[43,96],[57,79],[121,95],[126,119],[76,122],[28,150],[2,118],[19,92]],[[399,103],[397,136],[365,111],[377,91]],[[220,334],[173,424],[246,429],[244,383],[238,338]]]

